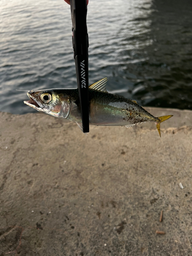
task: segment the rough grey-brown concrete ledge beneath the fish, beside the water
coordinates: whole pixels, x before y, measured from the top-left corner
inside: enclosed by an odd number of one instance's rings
[[[191,256],[192,112],[147,110],[161,138],[0,113],[0,255]]]

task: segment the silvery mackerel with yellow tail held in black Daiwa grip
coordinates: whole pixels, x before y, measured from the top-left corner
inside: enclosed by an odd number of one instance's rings
[[[89,86],[89,122],[91,125],[131,127],[143,122],[155,122],[161,137],[160,123],[173,115],[154,117],[137,101],[106,91],[107,78]],[[29,91],[24,103],[54,117],[76,122],[82,130],[78,89],[48,89]]]

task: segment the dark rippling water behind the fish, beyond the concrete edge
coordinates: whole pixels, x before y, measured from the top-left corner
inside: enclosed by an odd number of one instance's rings
[[[90,84],[145,106],[192,109],[192,1],[90,0]],[[0,1],[0,111],[24,114],[26,92],[76,88],[70,7]]]

